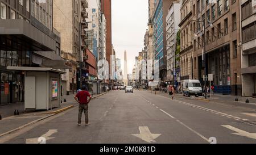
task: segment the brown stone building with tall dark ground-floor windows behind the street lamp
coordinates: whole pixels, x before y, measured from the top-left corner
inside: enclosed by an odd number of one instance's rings
[[[193,1],[191,38],[191,75],[204,83],[205,74],[213,74],[216,93],[241,95],[241,55],[239,1]],[[196,21],[197,20],[197,21]],[[203,22],[205,22],[205,34]],[[182,35],[181,35],[182,37]],[[205,39],[205,60],[202,58]],[[189,60],[188,59],[188,60]],[[204,66],[204,61],[206,66]],[[207,82],[207,85],[210,83]]]

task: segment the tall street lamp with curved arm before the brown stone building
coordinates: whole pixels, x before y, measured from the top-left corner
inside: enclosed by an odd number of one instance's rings
[[[193,22],[199,22],[203,23],[203,28],[204,28],[204,52],[202,53],[202,64],[204,64],[204,91],[205,95],[204,98],[207,99],[207,69],[206,69],[206,41],[205,41],[205,20],[192,20]]]

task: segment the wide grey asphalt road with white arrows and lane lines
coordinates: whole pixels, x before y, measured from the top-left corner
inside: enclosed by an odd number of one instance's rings
[[[117,90],[90,102],[89,126],[77,126],[77,114],[72,108],[0,143],[36,143],[42,136],[49,144],[256,143],[255,109],[221,102]]]

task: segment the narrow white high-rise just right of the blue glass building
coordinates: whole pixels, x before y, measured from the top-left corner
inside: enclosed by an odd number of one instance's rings
[[[180,30],[180,1],[174,1],[166,17],[166,40],[167,40],[167,80],[174,84],[176,72],[176,36]],[[176,84],[176,83],[175,83]]]

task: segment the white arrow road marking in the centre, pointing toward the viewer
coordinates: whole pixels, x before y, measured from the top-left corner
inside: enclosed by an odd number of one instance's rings
[[[157,139],[161,134],[151,133],[148,127],[139,127],[140,134],[132,134],[135,137],[138,137],[147,143],[155,143],[155,139]]]

